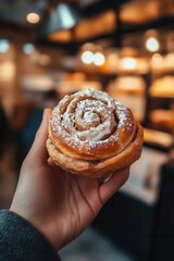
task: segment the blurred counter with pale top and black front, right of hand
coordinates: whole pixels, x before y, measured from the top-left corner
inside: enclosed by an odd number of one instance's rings
[[[164,225],[159,215],[165,204],[163,201],[160,203],[161,197],[164,200],[170,194],[167,174],[165,172],[165,178],[162,174],[166,161],[166,152],[144,146],[141,158],[130,167],[128,181],[94,222],[96,229],[137,261],[159,261],[151,257],[159,257],[159,250],[165,251],[164,248],[159,249],[157,244],[158,233]],[[169,204],[172,206],[172,201]]]

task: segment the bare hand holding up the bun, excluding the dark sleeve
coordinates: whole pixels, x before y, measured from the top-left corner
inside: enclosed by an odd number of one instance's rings
[[[107,200],[127,181],[129,170],[98,179],[72,175],[48,159],[46,140],[50,110],[26,157],[10,210],[34,226],[59,250],[78,236],[95,219]]]

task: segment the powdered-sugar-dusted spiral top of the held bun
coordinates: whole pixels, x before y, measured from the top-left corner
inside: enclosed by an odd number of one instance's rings
[[[54,136],[86,154],[120,142],[120,129],[132,132],[134,121],[125,105],[103,91],[86,89],[65,96],[53,109],[50,124]],[[62,141],[61,141],[62,142]]]

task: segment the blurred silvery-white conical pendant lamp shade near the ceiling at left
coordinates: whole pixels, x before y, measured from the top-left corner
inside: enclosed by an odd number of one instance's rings
[[[73,28],[79,21],[78,11],[66,3],[60,3],[48,14],[48,17],[39,28],[40,37],[47,37],[49,34],[62,29]]]

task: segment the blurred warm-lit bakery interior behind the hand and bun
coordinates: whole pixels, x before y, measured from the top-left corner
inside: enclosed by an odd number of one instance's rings
[[[94,226],[137,260],[167,260],[171,241],[151,235],[174,231],[173,0],[0,0],[0,98],[9,129],[1,146],[0,208],[14,192],[33,110],[42,110],[53,91],[60,99],[87,87],[127,104],[145,127],[142,157],[120,191],[128,212],[113,198]],[[102,224],[113,208],[120,211],[109,220],[120,224],[114,229]]]

